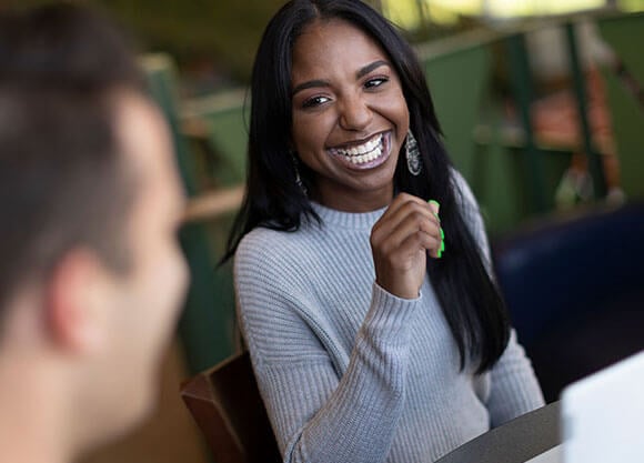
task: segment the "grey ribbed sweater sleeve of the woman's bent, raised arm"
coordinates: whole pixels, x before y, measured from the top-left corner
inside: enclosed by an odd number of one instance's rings
[[[265,246],[262,246],[265,248]],[[268,254],[268,255],[266,255]],[[419,300],[375,283],[344,371],[328,352],[315,298],[293,262],[242,242],[238,310],[284,462],[382,462],[402,412],[410,325]]]

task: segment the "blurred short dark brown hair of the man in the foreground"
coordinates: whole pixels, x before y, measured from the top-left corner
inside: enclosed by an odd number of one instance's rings
[[[0,62],[1,311],[74,245],[127,270],[135,182],[112,95],[142,92],[143,78],[122,32],[73,4],[0,17]]]

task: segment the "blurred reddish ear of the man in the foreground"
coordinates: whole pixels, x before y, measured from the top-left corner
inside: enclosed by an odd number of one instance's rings
[[[108,334],[108,273],[89,249],[68,252],[44,286],[48,331],[53,342],[78,354],[102,349]]]

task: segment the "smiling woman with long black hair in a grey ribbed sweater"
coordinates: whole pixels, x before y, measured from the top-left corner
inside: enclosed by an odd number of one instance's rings
[[[285,462],[434,461],[543,404],[420,64],[379,13],[273,17],[249,167],[228,256]]]

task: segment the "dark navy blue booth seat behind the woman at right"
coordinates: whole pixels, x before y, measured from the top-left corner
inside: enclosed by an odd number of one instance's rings
[[[582,210],[493,244],[499,285],[549,402],[644,349],[644,204]]]

